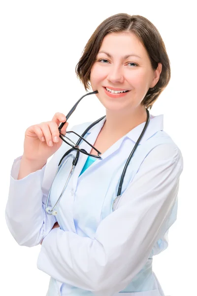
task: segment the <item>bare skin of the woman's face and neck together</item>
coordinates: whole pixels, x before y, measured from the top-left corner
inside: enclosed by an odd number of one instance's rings
[[[148,53],[132,33],[111,33],[103,38],[95,64],[92,67],[90,82],[100,103],[106,110],[106,121],[101,130],[102,136],[112,140],[120,139],[131,129],[146,121],[145,106],[141,105],[149,88],[154,87],[162,71],[162,64],[153,70]],[[123,56],[135,54],[139,57]],[[131,90],[125,97],[110,98],[103,86]],[[113,138],[113,139],[112,139]]]

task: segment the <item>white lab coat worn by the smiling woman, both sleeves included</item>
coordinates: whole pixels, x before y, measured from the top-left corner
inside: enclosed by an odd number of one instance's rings
[[[92,145],[105,120],[87,133]],[[71,130],[82,134],[89,124]],[[46,214],[46,198],[70,146],[63,143],[41,170],[21,180],[16,180],[21,157],[14,161],[5,218],[19,245],[33,247],[44,238],[37,267],[51,276],[47,296],[164,296],[152,260],[167,248],[168,229],[176,220],[183,158],[163,130],[163,115],[151,115],[112,212],[123,168],[144,124],[107,149],[79,177],[88,157],[80,154],[56,217]],[[69,137],[76,140],[73,134]],[[90,152],[85,142],[80,148]],[[57,201],[69,170],[65,165],[63,175],[56,177],[50,205]],[[52,229],[56,221],[60,227]]]

